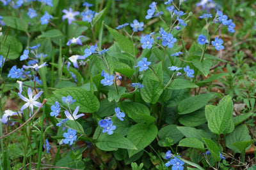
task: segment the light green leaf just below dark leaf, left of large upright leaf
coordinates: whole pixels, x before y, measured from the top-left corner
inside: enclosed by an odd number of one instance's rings
[[[200,141],[203,141],[202,138],[211,139],[212,136],[208,132],[203,131],[202,129],[195,129],[195,127],[177,127],[186,138],[196,138]]]

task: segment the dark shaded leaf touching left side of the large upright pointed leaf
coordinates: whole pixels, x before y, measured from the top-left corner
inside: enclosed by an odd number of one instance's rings
[[[193,113],[182,115],[179,117],[179,122],[182,125],[188,127],[196,127],[207,122],[205,118],[205,110],[201,108],[199,110],[193,111]]]

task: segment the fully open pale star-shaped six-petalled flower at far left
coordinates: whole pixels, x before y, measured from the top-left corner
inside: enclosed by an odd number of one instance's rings
[[[42,103],[36,101],[41,95],[42,95],[42,91],[38,92],[38,94],[36,94],[33,97],[32,94],[32,90],[30,89],[30,87],[28,88],[28,98],[22,96],[22,94],[19,92],[18,95],[20,97],[20,99],[22,99],[22,101],[25,101],[26,103],[20,108],[20,111],[26,109],[29,107],[30,113],[29,113],[29,117],[31,117],[31,115],[33,114],[33,110],[34,110],[34,106],[36,107],[40,107]]]

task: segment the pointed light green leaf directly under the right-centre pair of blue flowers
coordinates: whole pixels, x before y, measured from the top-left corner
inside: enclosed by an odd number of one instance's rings
[[[196,87],[198,87],[198,85],[195,85],[189,80],[176,78],[172,81],[168,89],[179,90],[179,89],[196,88]]]

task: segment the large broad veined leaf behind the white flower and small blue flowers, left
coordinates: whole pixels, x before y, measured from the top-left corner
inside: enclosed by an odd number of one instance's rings
[[[79,87],[67,87],[60,90],[55,90],[54,96],[47,98],[47,104],[54,104],[56,98],[58,102],[62,102],[61,97],[72,96],[73,99],[76,99],[74,104],[70,104],[70,108],[75,110],[77,106],[80,106],[79,111],[85,113],[93,113],[99,110],[99,100],[95,97],[92,92],[88,92]]]

